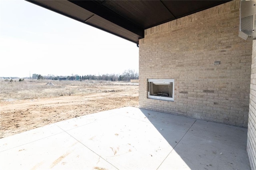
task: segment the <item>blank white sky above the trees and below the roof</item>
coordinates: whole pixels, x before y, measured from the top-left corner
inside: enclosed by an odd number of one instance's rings
[[[24,0],[0,0],[0,77],[138,71],[139,48]]]

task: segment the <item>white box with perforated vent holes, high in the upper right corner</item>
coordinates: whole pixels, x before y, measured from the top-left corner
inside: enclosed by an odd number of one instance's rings
[[[239,37],[256,40],[256,0],[241,0]]]

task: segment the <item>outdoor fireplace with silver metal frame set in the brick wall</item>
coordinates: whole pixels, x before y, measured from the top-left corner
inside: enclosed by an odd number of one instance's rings
[[[174,101],[174,79],[148,79],[148,99]]]

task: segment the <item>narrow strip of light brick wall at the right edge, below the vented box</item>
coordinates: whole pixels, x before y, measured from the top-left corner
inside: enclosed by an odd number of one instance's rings
[[[247,152],[252,170],[256,169],[256,40],[252,45],[252,74],[247,134]]]

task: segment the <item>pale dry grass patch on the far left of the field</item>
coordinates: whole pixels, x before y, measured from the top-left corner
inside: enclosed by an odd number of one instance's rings
[[[54,85],[47,85],[47,82]],[[84,85],[90,81],[54,81],[54,80],[14,80],[0,81],[0,100],[35,99],[42,97],[56,97],[90,93]],[[71,88],[72,86],[72,88]],[[74,88],[75,86],[75,88]]]

